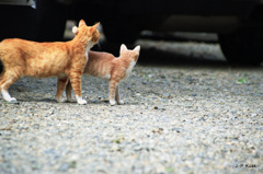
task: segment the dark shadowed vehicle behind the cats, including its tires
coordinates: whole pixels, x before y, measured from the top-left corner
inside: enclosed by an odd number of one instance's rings
[[[36,0],[36,9],[0,5],[0,39],[61,40],[67,20],[101,22],[108,43],[129,44],[141,31],[217,33],[230,62],[263,60],[261,0]],[[14,11],[16,13],[14,13]]]

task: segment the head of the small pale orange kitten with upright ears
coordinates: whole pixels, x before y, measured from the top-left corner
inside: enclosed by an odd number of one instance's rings
[[[126,45],[122,44],[121,45],[121,50],[119,50],[119,56],[121,57],[126,57],[128,59],[133,59],[135,61],[138,60],[139,58],[139,53],[140,53],[140,46],[136,46],[134,49],[128,49]]]

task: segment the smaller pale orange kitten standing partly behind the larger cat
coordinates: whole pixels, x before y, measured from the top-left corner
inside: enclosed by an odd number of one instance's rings
[[[73,27],[72,32],[78,36],[79,32],[77,27]],[[130,74],[138,60],[139,51],[140,46],[128,50],[124,44],[121,46],[119,57],[117,58],[107,53],[89,51],[89,61],[85,65],[83,73],[110,81],[108,91],[111,105],[115,105],[116,103],[124,104],[119,97],[118,84]],[[73,102],[71,98],[70,82],[66,86],[66,95],[69,102]]]

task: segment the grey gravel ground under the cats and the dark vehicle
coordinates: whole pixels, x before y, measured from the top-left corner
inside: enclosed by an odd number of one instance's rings
[[[125,105],[91,77],[88,105],[57,103],[56,79],[0,96],[0,173],[263,173],[262,67],[230,68],[216,44],[137,44]]]

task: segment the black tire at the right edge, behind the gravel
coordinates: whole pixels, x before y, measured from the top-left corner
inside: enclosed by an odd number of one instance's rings
[[[259,65],[263,61],[263,27],[243,28],[219,35],[221,50],[230,63]]]

